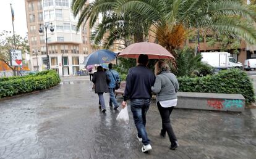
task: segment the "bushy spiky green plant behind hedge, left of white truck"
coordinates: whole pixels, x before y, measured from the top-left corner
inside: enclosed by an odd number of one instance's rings
[[[194,49],[185,48],[176,50],[177,69],[170,64],[171,71],[177,76],[206,76],[213,74],[213,68],[210,65],[201,62],[202,55],[194,55]]]

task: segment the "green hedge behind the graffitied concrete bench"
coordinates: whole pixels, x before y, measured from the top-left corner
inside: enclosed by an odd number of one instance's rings
[[[180,77],[178,81],[182,92],[242,94],[246,103],[255,101],[252,81],[242,70],[223,70],[216,75],[199,78]]]

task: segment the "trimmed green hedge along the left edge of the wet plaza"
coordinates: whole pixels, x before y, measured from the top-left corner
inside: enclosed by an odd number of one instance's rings
[[[0,98],[51,88],[61,79],[54,70],[41,71],[35,75],[0,78]]]

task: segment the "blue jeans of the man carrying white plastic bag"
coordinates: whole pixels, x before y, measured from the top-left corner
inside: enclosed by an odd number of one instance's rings
[[[146,114],[150,106],[150,99],[130,100],[130,110],[134,116],[134,123],[138,131],[138,136],[142,138],[144,145],[150,144],[146,131]]]

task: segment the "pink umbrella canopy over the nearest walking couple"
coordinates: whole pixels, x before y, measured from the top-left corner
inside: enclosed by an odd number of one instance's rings
[[[138,59],[140,54],[148,55],[148,59],[175,59],[163,46],[148,42],[131,44],[118,56]]]

